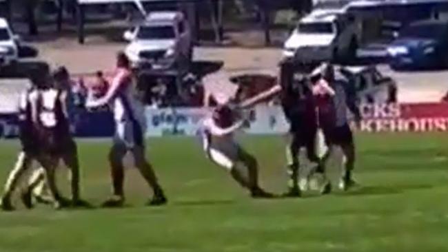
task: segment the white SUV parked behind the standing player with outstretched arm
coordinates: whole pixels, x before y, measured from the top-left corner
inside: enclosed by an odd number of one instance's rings
[[[171,69],[192,60],[190,25],[181,12],[151,12],[140,25],[123,34],[134,67]]]

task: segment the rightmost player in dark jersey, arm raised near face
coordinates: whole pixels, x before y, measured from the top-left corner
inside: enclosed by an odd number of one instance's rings
[[[354,86],[350,85],[351,83],[342,74],[336,72],[334,66],[329,63],[323,63],[314,75],[317,80],[314,93],[317,94],[319,123],[323,129],[325,143],[329,147],[324,162],[329,158],[334,147],[342,149],[345,169],[338,186],[340,189],[347,190],[356,185],[352,178],[355,145],[347,118],[347,110],[349,110],[354,116],[356,125],[359,125],[361,120],[360,111],[356,105],[356,91]]]

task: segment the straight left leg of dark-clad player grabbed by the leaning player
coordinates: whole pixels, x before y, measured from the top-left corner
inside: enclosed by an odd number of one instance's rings
[[[287,162],[287,172],[289,175],[288,180],[288,191],[285,196],[289,197],[299,197],[301,196],[301,190],[298,187],[298,176],[299,176],[299,162],[298,162],[298,150],[300,149],[300,143],[298,136],[295,132],[289,133],[287,136],[286,145],[286,162]]]

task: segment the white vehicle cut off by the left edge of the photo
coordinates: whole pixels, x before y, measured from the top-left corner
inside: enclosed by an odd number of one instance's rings
[[[19,59],[18,36],[14,35],[6,19],[0,18],[0,69],[17,63]]]

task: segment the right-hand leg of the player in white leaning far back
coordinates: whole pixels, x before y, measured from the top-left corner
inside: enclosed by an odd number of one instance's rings
[[[250,189],[251,196],[253,198],[272,198],[273,195],[261,189],[259,185],[258,162],[256,158],[238,146],[238,161],[247,168],[249,176],[247,178],[247,187]]]

